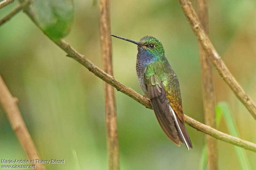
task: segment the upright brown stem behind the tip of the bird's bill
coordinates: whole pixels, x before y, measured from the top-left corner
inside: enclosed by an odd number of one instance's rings
[[[103,70],[113,75],[109,0],[100,0],[100,44]],[[116,123],[116,101],[113,86],[104,82],[109,170],[119,170],[119,148]]]

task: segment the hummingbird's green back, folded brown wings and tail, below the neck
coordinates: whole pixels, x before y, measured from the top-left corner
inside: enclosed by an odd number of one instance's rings
[[[179,81],[171,67],[162,63],[152,63],[145,71],[145,84],[157,120],[164,133],[176,145],[185,143],[188,149],[192,144],[184,124]]]

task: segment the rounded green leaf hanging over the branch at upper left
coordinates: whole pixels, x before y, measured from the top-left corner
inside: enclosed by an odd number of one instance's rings
[[[33,0],[25,10],[33,14],[40,29],[54,41],[70,32],[74,18],[73,0]]]

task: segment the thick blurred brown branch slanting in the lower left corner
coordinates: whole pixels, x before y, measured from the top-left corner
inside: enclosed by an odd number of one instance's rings
[[[0,75],[0,102],[3,105],[3,108],[6,112],[6,115],[11,123],[12,130],[16,133],[17,138],[20,140],[20,143],[26,152],[29,161],[40,159],[37,151],[36,146],[34,145],[32,138],[28,132],[26,124],[21,116],[20,110],[17,106],[18,99],[13,97],[10,93],[9,89],[4,83]],[[31,164],[36,165],[34,169],[36,170],[44,170],[44,166],[39,163]]]

